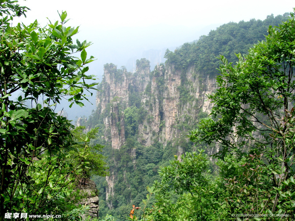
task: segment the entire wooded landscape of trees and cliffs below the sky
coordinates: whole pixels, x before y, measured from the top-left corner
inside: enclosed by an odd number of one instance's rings
[[[0,221],[295,220],[294,13],[224,24],[153,71],[106,64],[95,88],[67,13],[13,26],[27,10],[0,2]],[[90,89],[88,119],[55,113]]]

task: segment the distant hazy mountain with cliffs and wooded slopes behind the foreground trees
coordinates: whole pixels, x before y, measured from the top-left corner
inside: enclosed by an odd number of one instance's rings
[[[217,159],[211,155],[223,150],[224,144],[206,139],[199,142],[193,137],[190,141],[187,136],[202,118],[211,113],[214,104],[206,94],[218,91],[215,79],[219,73],[216,68],[221,63],[218,57],[223,55],[229,62],[241,60],[235,53],[246,55],[249,47],[265,39],[270,26],[278,26],[288,18],[289,14],[270,15],[264,21],[252,19],[224,24],[195,42],[183,44],[174,52],[167,50],[166,63],[156,66],[153,71],[150,71],[146,59],[137,60],[135,73],[127,72],[125,67],[117,69],[114,64],[104,66],[97,110],[87,121],[79,119],[79,124],[86,128],[99,127],[96,142],[105,146],[103,155],[107,157],[110,168],[106,179],[94,177],[100,192],[101,217],[108,213],[117,220],[125,220],[131,205],[141,204],[148,193],[146,187],[161,179],[158,170],[168,166],[174,156],[181,160],[185,152],[203,149],[205,152],[202,153],[210,156],[210,161],[207,161],[206,157],[201,157],[202,154],[198,155],[205,167],[211,169],[206,180],[218,173],[213,163]],[[214,116],[218,118],[219,112]],[[253,132],[253,136],[260,135]],[[207,136],[204,135],[205,138]],[[240,149],[249,149],[249,145],[246,146],[242,145]],[[194,157],[196,155],[191,156],[193,160]],[[223,164],[219,166],[222,168]],[[188,189],[181,191],[185,193]],[[191,195],[194,197],[193,193]],[[155,200],[150,199],[150,206]],[[168,201],[177,201],[171,200]],[[194,219],[209,219],[199,215]]]

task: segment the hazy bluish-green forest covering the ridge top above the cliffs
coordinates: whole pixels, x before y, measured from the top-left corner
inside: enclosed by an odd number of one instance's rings
[[[230,22],[203,35],[198,41],[185,43],[175,52],[166,50],[165,58],[178,70],[184,70],[189,65],[196,65],[197,71],[215,76],[219,66],[219,55],[228,57],[230,62],[236,61],[234,53],[247,53],[249,47],[263,40],[269,25],[277,26],[286,21],[289,14],[273,17],[269,15],[264,21],[251,19],[249,22]]]

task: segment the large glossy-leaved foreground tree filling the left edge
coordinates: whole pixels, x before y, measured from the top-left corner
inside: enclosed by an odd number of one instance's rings
[[[62,98],[82,106],[83,90],[96,85],[85,83],[94,80],[86,75],[94,60],[85,51],[90,43],[73,44],[78,27],[65,26],[67,13],[44,28],[37,20],[13,26],[26,11],[17,1],[0,1],[0,220],[6,212],[65,209],[60,202],[70,195],[81,164],[71,160],[70,151],[78,152],[73,125],[52,108]],[[18,92],[24,95],[10,99]]]

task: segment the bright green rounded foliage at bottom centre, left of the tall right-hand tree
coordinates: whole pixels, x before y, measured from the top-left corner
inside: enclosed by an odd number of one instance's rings
[[[130,215],[130,220],[224,220],[218,203],[222,189],[210,182],[204,151],[186,153],[181,160],[175,157],[170,164],[159,171],[161,181],[148,188],[147,199],[152,194],[156,198],[153,207],[140,219]]]

